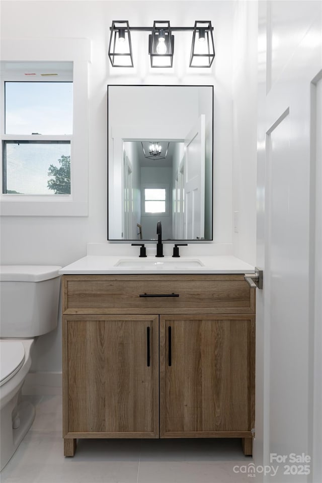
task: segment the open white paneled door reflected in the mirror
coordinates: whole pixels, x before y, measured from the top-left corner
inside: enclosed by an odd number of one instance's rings
[[[205,115],[185,138],[185,239],[205,236]]]

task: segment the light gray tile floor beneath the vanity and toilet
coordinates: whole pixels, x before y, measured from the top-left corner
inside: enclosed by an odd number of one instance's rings
[[[238,439],[79,440],[64,458],[61,396],[25,396],[35,421],[0,474],[1,483],[244,483],[252,463]],[[254,481],[255,478],[252,478]]]

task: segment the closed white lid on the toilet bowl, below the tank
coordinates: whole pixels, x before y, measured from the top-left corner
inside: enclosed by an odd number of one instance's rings
[[[25,348],[19,341],[0,341],[0,386],[19,371],[25,361]]]

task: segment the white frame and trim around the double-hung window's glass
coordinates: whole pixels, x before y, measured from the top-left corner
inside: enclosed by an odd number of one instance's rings
[[[87,39],[2,39],[2,63],[37,61],[73,62],[73,133],[72,136],[33,135],[32,140],[70,138],[70,195],[0,194],[1,216],[88,216],[88,64],[91,44]],[[4,83],[17,79],[1,76],[0,132],[2,140],[13,140],[6,135]],[[29,81],[30,79],[26,79]],[[61,79],[63,80],[63,79]],[[18,135],[20,140],[26,136]],[[27,136],[30,139],[30,136]],[[1,150],[2,151],[2,150]],[[1,154],[2,155],[2,154]],[[1,169],[0,182],[3,186]],[[2,191],[2,190],[1,190]]]

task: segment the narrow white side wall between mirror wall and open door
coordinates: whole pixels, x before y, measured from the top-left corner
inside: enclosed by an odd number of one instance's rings
[[[256,262],[257,2],[236,2],[233,29],[234,255]]]

